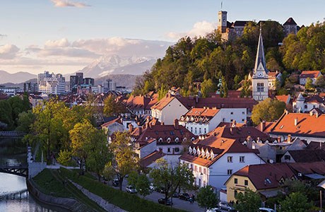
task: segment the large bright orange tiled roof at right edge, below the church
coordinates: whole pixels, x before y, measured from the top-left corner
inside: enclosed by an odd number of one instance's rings
[[[270,134],[292,134],[293,136],[325,137],[325,114],[284,113]]]

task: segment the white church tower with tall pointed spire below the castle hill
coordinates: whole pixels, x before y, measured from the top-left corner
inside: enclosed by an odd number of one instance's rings
[[[259,30],[259,45],[256,52],[252,88],[254,100],[262,101],[268,98],[268,69],[266,69],[261,28]]]

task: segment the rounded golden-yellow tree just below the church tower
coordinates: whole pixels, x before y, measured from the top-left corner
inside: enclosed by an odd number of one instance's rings
[[[252,121],[254,124],[259,124],[262,121],[275,122],[280,118],[285,110],[285,102],[280,102],[276,99],[267,98],[259,104],[254,105],[252,111]]]

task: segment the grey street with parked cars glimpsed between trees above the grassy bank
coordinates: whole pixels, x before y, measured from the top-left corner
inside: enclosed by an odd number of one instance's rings
[[[110,186],[112,186],[112,182],[109,183]],[[122,184],[122,190],[125,191],[125,187],[127,185],[127,180],[124,179],[123,180],[123,184]],[[119,189],[119,187],[113,187],[114,189]],[[138,195],[139,194],[134,194],[134,195]],[[141,196],[142,197],[142,196]],[[154,201],[155,203],[158,203],[158,199],[165,197],[165,194],[160,194],[159,192],[152,192],[151,194],[149,194],[148,196],[145,197],[145,199],[148,199],[150,201]],[[182,209],[184,211],[193,211],[193,212],[203,212],[204,208],[199,207],[199,205],[197,204],[196,201],[194,201],[193,204],[190,204],[189,201],[184,201],[182,199],[178,199],[178,198],[173,198],[172,199],[173,208],[178,208],[178,209]],[[170,206],[168,206],[170,207]]]

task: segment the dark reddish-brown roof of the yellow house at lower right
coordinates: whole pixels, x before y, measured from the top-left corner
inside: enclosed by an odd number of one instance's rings
[[[248,177],[258,190],[280,187],[281,179],[295,177],[287,163],[247,165],[233,175]]]

